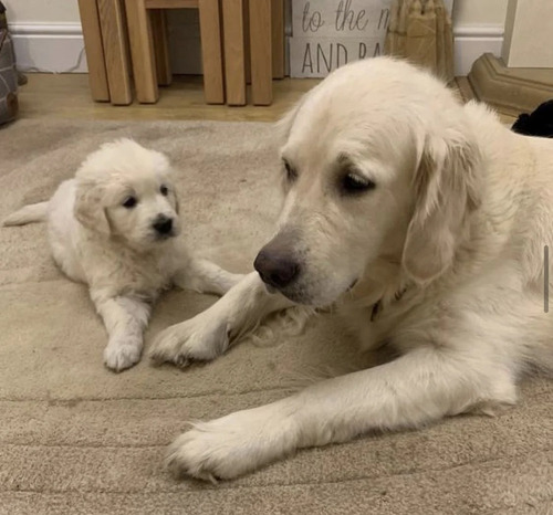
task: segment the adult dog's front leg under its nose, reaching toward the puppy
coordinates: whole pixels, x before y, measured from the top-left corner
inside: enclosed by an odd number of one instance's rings
[[[280,293],[269,294],[259,274],[252,272],[204,313],[163,330],[149,355],[156,362],[179,366],[211,360],[264,317],[293,305]]]

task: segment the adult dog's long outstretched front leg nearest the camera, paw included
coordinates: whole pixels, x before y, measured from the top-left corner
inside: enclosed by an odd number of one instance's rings
[[[196,423],[173,443],[168,464],[177,475],[232,479],[299,448],[419,427],[477,403],[514,400],[508,370],[420,348],[271,404]]]

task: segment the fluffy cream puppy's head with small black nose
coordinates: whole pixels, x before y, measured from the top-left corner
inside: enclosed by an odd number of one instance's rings
[[[75,176],[74,213],[86,228],[146,251],[179,233],[167,158],[129,139],[106,144]]]

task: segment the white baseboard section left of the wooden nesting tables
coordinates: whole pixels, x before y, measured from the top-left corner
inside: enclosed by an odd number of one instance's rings
[[[18,69],[23,72],[86,73],[81,23],[10,23]]]

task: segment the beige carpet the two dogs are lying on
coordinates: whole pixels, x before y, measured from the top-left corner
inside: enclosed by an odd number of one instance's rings
[[[0,130],[0,218],[45,199],[117,136],[173,158],[191,246],[250,270],[278,208],[268,125],[19,122]],[[0,229],[0,251],[1,514],[553,513],[553,385],[544,380],[497,418],[305,450],[217,486],[177,482],[161,461],[186,420],[279,399],[302,368],[355,360],[340,323],[322,317],[302,337],[247,343],[187,371],[145,360],[114,375],[86,290],[56,271],[44,227]],[[213,301],[170,292],[147,340]]]

